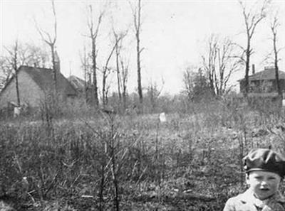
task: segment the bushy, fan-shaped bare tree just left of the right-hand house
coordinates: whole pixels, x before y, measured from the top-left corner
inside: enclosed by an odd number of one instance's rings
[[[227,84],[240,60],[234,55],[234,45],[229,38],[212,35],[207,43],[207,53],[202,56],[212,94],[221,96],[228,89]]]

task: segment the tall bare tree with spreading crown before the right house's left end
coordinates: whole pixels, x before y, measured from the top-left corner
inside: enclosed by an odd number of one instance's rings
[[[240,46],[243,50],[242,52],[242,60],[245,64],[245,97],[247,97],[247,93],[249,92],[249,67],[250,67],[250,56],[253,53],[252,49],[252,38],[254,36],[254,32],[259,25],[259,23],[266,17],[266,7],[270,3],[270,0],[264,0],[261,8],[257,12],[252,12],[252,9],[247,9],[244,3],[239,0],[239,4],[242,7],[242,14],[244,16],[244,26],[247,33],[247,46],[246,48]],[[256,7],[256,5],[254,5]],[[244,58],[245,56],[245,58]]]

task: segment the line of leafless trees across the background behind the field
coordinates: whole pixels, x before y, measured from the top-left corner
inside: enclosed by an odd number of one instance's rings
[[[272,53],[266,59],[269,64],[274,65],[276,81],[279,82],[280,21],[278,13],[271,8],[272,3],[268,0],[252,6],[246,1],[238,2],[244,22],[244,28],[241,29],[245,32],[242,34],[244,43],[229,38],[227,35],[220,36],[214,33],[209,35],[201,50],[199,65],[186,67],[182,77],[185,86],[181,91],[187,95],[190,102],[199,101],[203,96],[204,98],[222,97],[229,94],[232,90],[234,73],[242,69],[244,69],[245,76],[244,96],[247,96],[249,69],[252,65],[251,56],[255,45],[254,38],[261,26],[267,27],[271,34],[272,48],[268,51]],[[124,111],[130,107],[136,107],[139,112],[157,111],[155,108],[157,99],[164,98],[162,101],[165,101],[166,98],[170,98],[167,100],[171,101],[171,98],[180,97],[162,97],[163,85],[158,87],[156,82],[150,82],[149,85],[142,87],[142,80],[146,78],[142,71],[141,59],[144,50],[141,45],[143,6],[140,0],[128,4],[126,8],[129,11],[127,14],[129,22],[121,23],[122,5],[126,6],[113,1],[85,5],[86,34],[84,37],[87,44],[82,46],[79,55],[85,80],[82,97],[90,107],[95,108],[116,107],[119,104],[120,110]],[[56,46],[58,45],[57,12],[55,2],[51,0],[52,29],[44,28],[35,20],[38,37],[45,44],[42,47],[19,43],[19,40],[11,46],[5,46],[6,53],[0,58],[0,68],[4,72],[4,77],[1,79],[2,87],[11,75],[16,75],[19,65],[51,67],[55,70]],[[268,21],[265,21],[266,19]],[[103,28],[107,29],[110,38],[109,41],[104,41],[107,47],[103,46],[99,39],[105,33]],[[102,53],[103,48],[105,48],[105,53]],[[132,53],[133,56],[131,56]],[[134,97],[135,94],[130,94],[128,87],[130,72],[135,72],[137,75],[137,90],[135,90],[137,97]],[[53,73],[56,87],[56,71]],[[281,97],[279,83],[276,86],[279,97]]]

